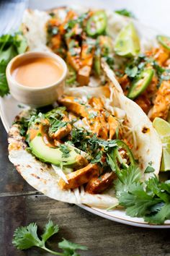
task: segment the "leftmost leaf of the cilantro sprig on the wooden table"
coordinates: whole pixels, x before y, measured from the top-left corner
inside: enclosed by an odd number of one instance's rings
[[[37,236],[37,224],[30,223],[28,226],[21,226],[14,231],[12,241],[17,249],[28,249],[36,246],[41,247],[42,241]]]

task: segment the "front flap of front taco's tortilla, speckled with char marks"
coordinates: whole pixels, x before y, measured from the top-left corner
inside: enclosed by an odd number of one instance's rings
[[[9,160],[19,174],[35,189],[55,200],[75,204],[84,203],[97,208],[117,205],[117,199],[109,195],[90,195],[81,189],[61,190],[58,175],[50,164],[42,163],[26,150],[24,138],[19,135],[19,126],[14,124],[9,130]]]

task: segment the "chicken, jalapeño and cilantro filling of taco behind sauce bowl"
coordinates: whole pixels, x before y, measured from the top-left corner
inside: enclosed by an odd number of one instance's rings
[[[107,14],[104,10],[77,12],[55,9],[46,24],[47,45],[66,60],[69,86],[91,85],[90,77],[102,76],[101,58],[113,64],[112,38],[106,34]],[[100,80],[104,84],[104,80]]]

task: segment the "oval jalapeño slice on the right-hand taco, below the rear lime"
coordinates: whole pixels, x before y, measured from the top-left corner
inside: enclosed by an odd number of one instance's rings
[[[128,92],[128,98],[133,100],[134,98],[138,97],[141,93],[146,90],[148,85],[151,83],[154,71],[153,69],[144,69],[138,77],[134,80],[133,84],[130,86]]]

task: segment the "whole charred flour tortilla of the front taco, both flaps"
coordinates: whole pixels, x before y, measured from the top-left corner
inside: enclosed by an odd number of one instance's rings
[[[110,88],[70,88],[67,89],[66,93],[68,95],[80,97],[84,97],[86,95],[107,97],[106,108],[120,117],[122,112],[126,114],[130,122],[130,126],[133,127],[137,146],[133,153],[135,158],[138,158],[139,160],[140,168],[144,171],[146,166],[148,166],[148,163],[152,162],[152,166],[155,168],[154,174],[158,175],[162,149],[161,142],[153,129],[151,121],[149,121],[146,114],[144,114],[136,103],[130,101],[122,95],[122,93],[119,93],[116,88]],[[110,99],[108,96],[110,96]],[[114,107],[112,107],[112,103],[114,103]],[[122,112],[119,108],[122,109]],[[23,112],[20,117],[23,114],[25,116],[27,112]],[[143,133],[144,127],[147,129],[146,133]],[[19,174],[21,174],[23,178],[35,189],[48,197],[55,200],[61,200],[63,202],[76,204],[84,203],[97,208],[108,208],[111,205],[117,205],[117,199],[114,195],[113,189],[109,189],[107,192],[100,195],[90,195],[84,192],[83,187],[81,187],[81,192],[79,192],[79,189],[74,189],[74,191],[61,190],[58,186],[59,176],[55,174],[55,171],[50,164],[42,163],[37,160],[37,158],[29,153],[26,148],[27,144],[24,142],[24,137],[19,135],[19,125],[14,124],[9,130],[9,160],[14,163]],[[143,179],[148,179],[151,175],[153,174],[143,173]]]

